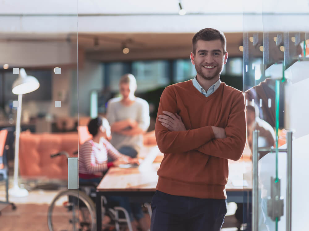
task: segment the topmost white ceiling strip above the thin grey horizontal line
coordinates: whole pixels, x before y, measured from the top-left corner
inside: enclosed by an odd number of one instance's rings
[[[179,0],[1,0],[0,14],[177,14]],[[188,13],[308,13],[308,0],[181,0]]]

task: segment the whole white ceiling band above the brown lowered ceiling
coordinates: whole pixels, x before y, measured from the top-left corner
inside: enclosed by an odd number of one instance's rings
[[[309,31],[309,0],[0,0],[0,34]]]

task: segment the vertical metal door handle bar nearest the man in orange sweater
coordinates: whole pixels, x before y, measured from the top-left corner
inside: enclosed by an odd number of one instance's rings
[[[252,153],[252,231],[258,231],[259,222],[259,180],[258,180],[258,138],[259,131],[253,132],[253,153]]]

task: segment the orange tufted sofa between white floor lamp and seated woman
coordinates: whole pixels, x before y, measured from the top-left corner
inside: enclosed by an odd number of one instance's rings
[[[65,156],[50,158],[50,154],[66,151],[70,156],[78,150],[77,132],[21,132],[19,140],[19,175],[27,178],[67,179]]]

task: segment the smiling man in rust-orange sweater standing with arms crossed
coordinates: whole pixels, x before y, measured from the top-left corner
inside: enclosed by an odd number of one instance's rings
[[[241,91],[220,82],[226,39],[206,28],[192,39],[197,75],[163,91],[155,135],[164,158],[152,199],[151,231],[219,231],[226,214],[228,159],[246,142]]]

